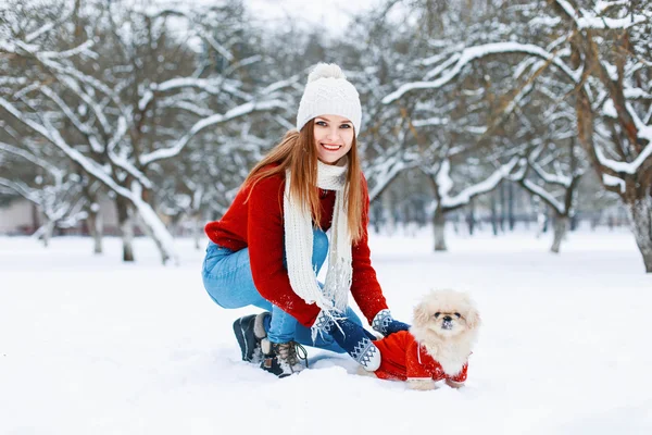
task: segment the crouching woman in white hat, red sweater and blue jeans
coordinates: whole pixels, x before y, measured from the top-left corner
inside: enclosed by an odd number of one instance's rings
[[[256,362],[262,353],[261,368],[279,377],[302,370],[299,344],[346,351],[369,371],[379,366],[375,337],[348,307],[349,291],[381,334],[410,327],[391,318],[369,259],[369,200],[355,142],[361,119],[353,85],[339,66],[319,63],[297,130],[253,167],[222,220],[205,227],[204,287],[221,307],[271,311],[238,319],[234,332],[242,359]],[[322,285],[316,274],[327,253]]]

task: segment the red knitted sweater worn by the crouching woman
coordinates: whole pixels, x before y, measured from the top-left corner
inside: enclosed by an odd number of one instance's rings
[[[253,283],[261,296],[291,314],[301,324],[312,326],[319,308],[315,303],[306,303],[292,291],[288,272],[283,264],[284,189],[285,176],[280,174],[261,179],[253,189],[249,186],[241,188],[222,220],[206,224],[205,233],[213,243],[224,248],[234,251],[249,248]],[[247,200],[250,191],[251,196]],[[369,199],[364,177],[363,191],[366,202],[363,215],[364,233],[361,240],[352,247],[351,294],[371,324],[378,311],[387,309],[387,302],[369,257]],[[325,190],[322,194],[321,226],[326,231],[330,228],[333,220],[335,191]],[[234,291],[237,289],[234,288]]]

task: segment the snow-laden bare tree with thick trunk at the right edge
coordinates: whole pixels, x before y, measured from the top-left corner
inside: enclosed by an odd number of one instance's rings
[[[505,41],[500,32],[487,32],[481,41],[463,38],[456,46],[450,44],[452,49],[431,58],[435,67],[429,64],[423,79],[403,83],[385,101],[460,83],[465,74],[477,72],[481,62],[497,57],[512,77],[505,80],[512,88],[503,104],[505,116],[527,102],[532,86],[546,85],[547,77],[565,82],[565,88],[573,89],[579,142],[604,187],[617,192],[628,207],[645,270],[652,272],[652,62],[648,37],[652,5],[599,2],[587,9],[567,0],[517,3],[503,3],[501,9],[500,21],[513,20],[514,25],[507,26],[512,40]],[[531,10],[544,13],[527,17],[524,11]],[[494,18],[484,18],[490,17]],[[494,28],[493,23],[484,22],[484,28]],[[487,38],[496,39],[487,42]],[[525,60],[513,61],[515,57]],[[514,77],[518,78],[515,84]],[[564,88],[548,91],[560,99],[568,97]],[[494,132],[501,117],[489,124],[487,133]]]

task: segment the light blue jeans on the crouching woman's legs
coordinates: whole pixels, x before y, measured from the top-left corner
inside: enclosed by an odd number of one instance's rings
[[[322,269],[328,254],[328,237],[321,229],[313,232],[313,270]],[[285,259],[284,259],[285,262]],[[319,334],[313,343],[309,327],[300,324],[280,308],[272,304],[256,290],[251,275],[249,248],[239,251],[221,247],[210,241],[202,266],[204,288],[209,296],[220,307],[227,309],[254,306],[272,312],[272,319],[265,324],[267,338],[272,343],[298,341],[306,346],[343,353],[344,350],[330,335]],[[362,325],[360,318],[351,308],[347,308],[346,316],[352,322]]]

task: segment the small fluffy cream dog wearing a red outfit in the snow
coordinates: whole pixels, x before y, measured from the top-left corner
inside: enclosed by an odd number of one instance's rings
[[[480,314],[468,295],[437,290],[414,309],[410,332],[374,341],[383,362],[375,372],[383,380],[408,381],[412,389],[434,389],[436,382],[459,388],[466,381],[468,356],[477,339]]]

